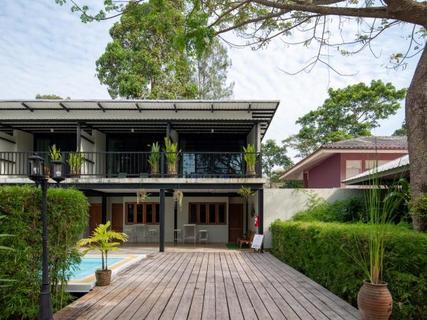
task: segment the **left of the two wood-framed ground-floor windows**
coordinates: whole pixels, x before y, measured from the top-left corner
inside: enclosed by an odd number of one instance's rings
[[[158,225],[160,222],[160,203],[126,203],[126,224]]]

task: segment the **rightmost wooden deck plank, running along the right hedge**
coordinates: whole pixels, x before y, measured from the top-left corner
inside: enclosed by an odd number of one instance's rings
[[[322,300],[322,302],[334,309],[334,311],[337,312],[337,314],[339,314],[340,316],[344,317],[344,319],[352,319],[352,317],[354,319],[359,319],[359,310],[354,308],[354,306],[352,306],[351,304],[345,302],[337,295],[325,289],[325,287],[322,287],[320,284],[313,281],[305,274],[298,272],[292,267],[276,259],[275,257],[273,257],[273,255],[268,254],[265,257],[268,259],[269,262],[273,263],[275,267],[278,267],[280,270],[283,270],[285,272],[285,277],[290,279],[299,279],[303,287],[305,287],[310,292],[315,293],[317,298],[319,298],[320,300]]]

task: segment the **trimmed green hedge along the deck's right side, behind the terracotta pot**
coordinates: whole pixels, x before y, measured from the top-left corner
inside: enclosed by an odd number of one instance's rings
[[[352,256],[367,251],[369,225],[277,220],[270,228],[278,259],[357,306],[365,276]],[[427,319],[427,235],[390,225],[384,260],[392,319]]]

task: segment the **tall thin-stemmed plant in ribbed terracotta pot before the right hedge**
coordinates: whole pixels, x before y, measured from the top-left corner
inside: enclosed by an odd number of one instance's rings
[[[359,265],[364,270],[367,279],[357,295],[357,306],[364,320],[387,320],[393,309],[393,298],[382,279],[384,267],[384,250],[386,245],[387,228],[394,211],[399,208],[403,198],[394,196],[395,186],[387,188],[384,196],[384,188],[379,182],[376,169],[371,176],[371,188],[365,193],[367,213],[369,217],[368,251],[362,252]],[[395,183],[394,183],[395,184]],[[384,198],[381,198],[381,195]]]

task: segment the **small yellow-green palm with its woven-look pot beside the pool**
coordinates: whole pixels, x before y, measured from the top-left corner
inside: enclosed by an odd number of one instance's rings
[[[84,253],[93,250],[101,252],[102,266],[95,272],[97,286],[107,286],[111,282],[111,270],[108,269],[108,252],[119,250],[118,246],[120,245],[120,242],[114,240],[125,242],[128,238],[125,233],[108,230],[109,227],[110,221],[107,221],[105,225],[101,223],[93,230],[92,237],[77,242],[78,247],[88,247],[83,251]]]

